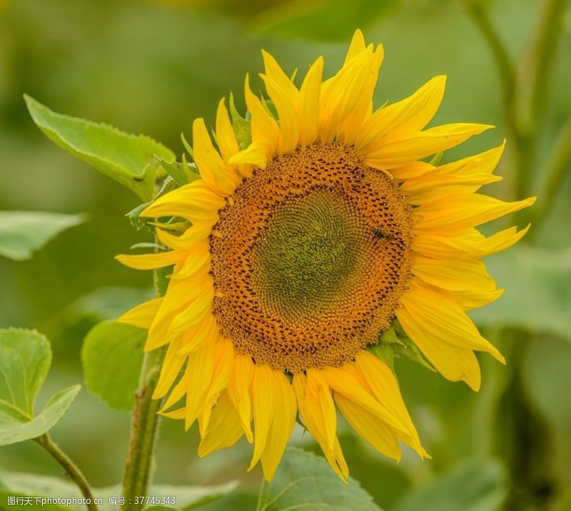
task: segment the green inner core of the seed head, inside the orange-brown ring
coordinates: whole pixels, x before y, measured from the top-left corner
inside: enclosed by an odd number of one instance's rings
[[[266,305],[298,318],[335,301],[358,261],[353,217],[335,191],[312,191],[276,206],[254,258]]]

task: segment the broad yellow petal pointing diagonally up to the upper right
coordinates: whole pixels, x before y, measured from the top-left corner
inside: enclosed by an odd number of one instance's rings
[[[381,142],[392,131],[423,129],[440,107],[445,83],[446,76],[435,76],[412,96],[375,111],[355,141],[357,151],[367,153],[370,146]]]

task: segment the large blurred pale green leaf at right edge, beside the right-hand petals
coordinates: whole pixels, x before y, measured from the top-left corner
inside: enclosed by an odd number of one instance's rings
[[[519,245],[486,260],[505,293],[473,310],[479,325],[509,325],[571,339],[571,249]]]

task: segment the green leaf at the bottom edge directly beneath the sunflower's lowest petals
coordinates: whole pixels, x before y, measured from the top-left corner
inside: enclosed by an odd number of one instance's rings
[[[324,458],[295,447],[285,450],[272,482],[264,480],[257,511],[379,511],[359,483],[340,480]]]

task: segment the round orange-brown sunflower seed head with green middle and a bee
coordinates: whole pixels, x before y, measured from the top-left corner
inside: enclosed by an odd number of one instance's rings
[[[293,373],[351,360],[388,328],[410,278],[410,211],[352,148],[274,158],[238,187],[211,237],[222,335]]]

